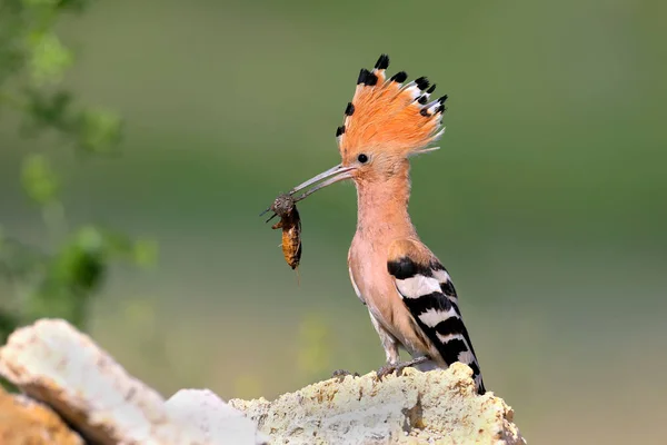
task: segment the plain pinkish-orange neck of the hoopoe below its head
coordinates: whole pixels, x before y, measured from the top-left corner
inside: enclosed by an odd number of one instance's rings
[[[357,235],[390,241],[415,237],[415,226],[408,214],[410,168],[406,161],[391,177],[357,181]]]

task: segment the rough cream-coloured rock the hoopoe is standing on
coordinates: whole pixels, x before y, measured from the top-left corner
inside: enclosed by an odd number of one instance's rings
[[[471,369],[405,369],[320,382],[273,402],[232,399],[272,444],[525,444],[501,398],[475,393]]]

